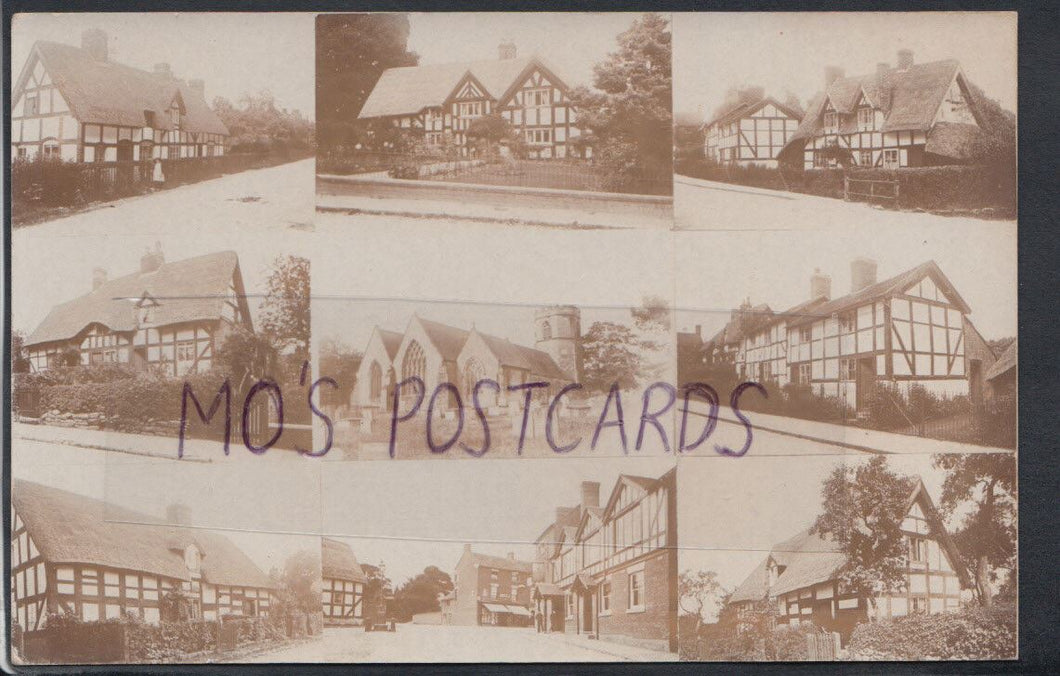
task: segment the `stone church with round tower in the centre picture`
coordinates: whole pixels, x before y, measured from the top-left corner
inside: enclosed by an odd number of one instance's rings
[[[466,408],[474,406],[475,384],[495,380],[500,390],[479,389],[479,405],[491,415],[522,410],[524,391],[509,391],[526,383],[548,383],[534,390],[534,401],[548,402],[563,387],[581,377],[581,313],[571,305],[542,307],[534,312],[534,346],[530,348],[482,333],[449,326],[413,315],[404,333],[375,326],[357,370],[350,405],[365,419],[389,416],[396,384],[417,376],[423,379],[426,395],[441,383],[459,392]],[[416,397],[411,387],[402,396]],[[457,406],[450,394],[444,410]],[[402,410],[407,403],[403,402]]]

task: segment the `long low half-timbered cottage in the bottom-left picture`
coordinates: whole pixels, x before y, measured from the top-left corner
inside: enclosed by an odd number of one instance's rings
[[[188,508],[166,518],[16,479],[12,485],[12,620],[24,631],[49,615],[84,622],[135,615],[158,624],[179,592],[192,619],[266,617],[268,576],[230,539],[188,528]]]

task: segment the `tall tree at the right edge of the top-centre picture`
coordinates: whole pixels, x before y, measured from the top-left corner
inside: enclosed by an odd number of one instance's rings
[[[618,50],[594,68],[596,91],[571,92],[578,126],[596,139],[594,158],[617,190],[672,174],[672,76],[669,21],[644,14],[618,36]],[[658,191],[668,192],[661,182]]]

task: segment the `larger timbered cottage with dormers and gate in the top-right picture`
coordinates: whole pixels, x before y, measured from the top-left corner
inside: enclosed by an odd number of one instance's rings
[[[811,101],[783,157],[805,168],[900,168],[958,164],[979,138],[982,121],[968,79],[956,60],[914,64],[898,52],[891,68],[868,75],[825,71],[825,91]]]

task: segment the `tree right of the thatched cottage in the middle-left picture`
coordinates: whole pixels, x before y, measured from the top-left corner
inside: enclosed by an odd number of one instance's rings
[[[288,376],[310,358],[310,261],[281,255],[272,262],[261,308],[262,333],[282,356]]]

